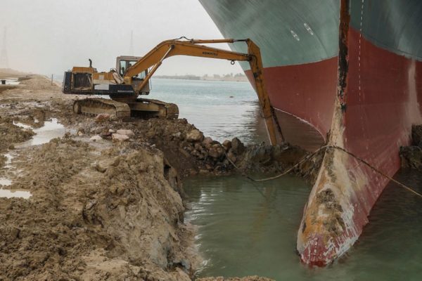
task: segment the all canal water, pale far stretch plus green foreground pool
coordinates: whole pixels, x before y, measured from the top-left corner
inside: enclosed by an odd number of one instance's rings
[[[264,141],[249,83],[153,79],[151,98],[177,103],[181,118],[217,141]],[[396,178],[422,192],[422,174],[401,171]],[[186,179],[186,220],[198,227],[196,244],[204,259],[198,276],[422,280],[422,200],[394,184],[385,188],[369,225],[343,259],[326,268],[300,263],[296,234],[311,188],[293,176],[264,183],[242,176]]]

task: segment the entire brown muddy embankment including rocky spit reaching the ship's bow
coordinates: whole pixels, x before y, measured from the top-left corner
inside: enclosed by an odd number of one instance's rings
[[[0,155],[14,155],[7,167],[0,157],[0,174],[11,179],[7,188],[32,194],[0,198],[0,280],[191,280],[199,259],[181,178],[234,172],[231,162],[245,172],[283,171],[307,154],[218,143],[184,119],[74,115],[74,98],[40,76],[0,93]],[[51,118],[69,133],[14,147],[34,132],[13,122],[37,128]],[[113,141],[122,129],[127,140]],[[308,165],[297,172],[312,174]],[[244,280],[264,280],[253,278]]]

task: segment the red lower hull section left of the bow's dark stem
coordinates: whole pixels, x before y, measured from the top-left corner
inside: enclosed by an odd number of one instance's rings
[[[264,68],[269,99],[288,143],[312,151],[326,142],[334,110],[337,62],[335,57]],[[250,70],[245,73],[253,84]]]

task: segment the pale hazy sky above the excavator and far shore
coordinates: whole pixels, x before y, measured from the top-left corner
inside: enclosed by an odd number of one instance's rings
[[[9,67],[40,74],[88,65],[88,58],[98,71],[108,71],[118,55],[129,55],[132,30],[134,55],[182,35],[222,38],[198,0],[1,0],[0,5],[0,47],[7,27]],[[173,57],[156,73],[230,72],[241,67],[226,60]]]

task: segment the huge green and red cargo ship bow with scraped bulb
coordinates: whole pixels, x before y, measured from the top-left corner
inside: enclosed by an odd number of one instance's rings
[[[422,123],[422,1],[199,1],[225,38],[260,46],[285,141],[309,151],[338,146],[394,176],[399,147]],[[300,259],[325,266],[345,254],[387,183],[326,150],[298,229]]]

